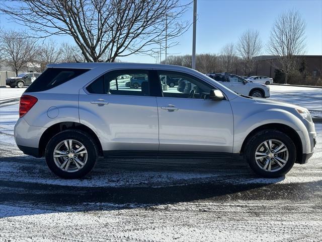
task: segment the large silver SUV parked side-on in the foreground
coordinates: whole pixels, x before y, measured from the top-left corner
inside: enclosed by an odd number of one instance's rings
[[[145,81],[126,85],[136,77]],[[307,162],[316,136],[306,108],[237,95],[197,71],[168,65],[49,65],[21,97],[19,115],[18,147],[45,156],[63,178],[88,174],[98,156],[241,157],[257,174],[278,177]]]

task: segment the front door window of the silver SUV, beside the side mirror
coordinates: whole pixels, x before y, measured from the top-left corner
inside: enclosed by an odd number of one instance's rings
[[[164,97],[207,99],[211,89],[208,83],[198,78],[178,72],[158,72]],[[175,86],[169,85],[175,83]]]

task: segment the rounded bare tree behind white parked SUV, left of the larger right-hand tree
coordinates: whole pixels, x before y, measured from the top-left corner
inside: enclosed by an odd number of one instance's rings
[[[256,30],[247,30],[239,37],[237,43],[237,51],[244,62],[244,75],[250,76],[255,60],[254,57],[261,53],[262,41],[259,32]]]

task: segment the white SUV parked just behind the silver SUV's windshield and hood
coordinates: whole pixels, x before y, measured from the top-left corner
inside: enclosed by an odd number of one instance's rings
[[[220,82],[232,91],[253,97],[269,97],[270,88],[264,84],[252,83],[234,74],[228,73],[208,73],[207,76]]]

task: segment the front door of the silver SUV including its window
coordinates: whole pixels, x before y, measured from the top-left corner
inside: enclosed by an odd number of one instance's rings
[[[159,116],[159,155],[232,152],[233,117],[228,100],[209,99],[214,89],[190,74],[157,71],[178,78],[178,87],[165,88],[156,97]],[[159,81],[162,83],[161,81]]]

